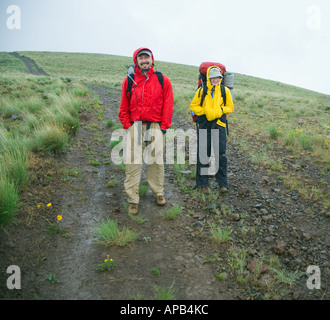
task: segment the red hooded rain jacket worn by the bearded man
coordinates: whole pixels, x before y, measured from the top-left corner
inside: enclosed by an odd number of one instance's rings
[[[160,122],[161,129],[171,126],[173,114],[173,89],[170,79],[163,75],[162,88],[157,75],[154,73],[154,56],[152,54],[152,67],[146,77],[137,66],[137,54],[147,49],[140,48],[134,52],[135,64],[134,82],[131,94],[126,94],[127,78],[124,79],[119,109],[119,120],[124,129],[128,129],[134,121]],[[149,50],[149,49],[147,49]],[[149,50],[151,52],[151,50]]]

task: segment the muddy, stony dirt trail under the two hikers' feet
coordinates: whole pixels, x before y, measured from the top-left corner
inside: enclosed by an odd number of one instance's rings
[[[120,91],[102,86],[89,90],[100,97],[104,118],[119,123]],[[97,129],[93,126],[92,130],[93,123],[98,125]],[[173,125],[182,129],[191,127],[176,114]],[[149,190],[139,206],[140,216],[148,221],[138,224],[123,205],[124,173],[111,161],[106,164],[110,160],[105,155],[110,154],[112,132],[96,117],[82,114],[82,127],[67,152],[40,168],[40,173],[35,167],[35,180],[23,199],[28,204],[48,193],[53,199],[52,214],[63,216],[60,223],[69,235],[45,234],[51,215],[40,213],[26,223],[27,212],[21,209],[18,213],[21,221],[0,233],[0,253],[4,257],[0,262],[0,298],[153,299],[157,285],[172,286],[175,299],[183,300],[329,298],[328,216],[320,214],[317,204],[297,201],[294,193],[286,192],[276,179],[267,176],[265,169],[251,166],[239,148],[229,143],[231,191],[221,198],[221,206],[192,199],[190,194],[180,191],[180,186],[174,183],[172,168],[166,165],[167,205],[157,207]],[[94,167],[90,160],[101,165]],[[59,175],[60,169],[52,167],[54,163],[61,163],[77,174],[71,174],[66,182]],[[45,172],[53,179],[43,182],[44,189],[40,191]],[[118,184],[107,188],[111,178],[116,178]],[[175,220],[164,220],[159,213],[174,204],[184,208],[182,214]],[[138,232],[138,239],[127,247],[105,248],[95,243],[94,228],[105,218],[116,220],[120,228]],[[232,229],[231,241],[217,244],[211,240],[209,225],[214,221]],[[17,230],[21,232],[18,234]],[[283,248],[276,247],[279,240],[284,242]],[[248,250],[243,265],[247,284],[237,281],[239,270],[229,266],[233,248]],[[113,258],[115,269],[96,271],[107,255]],[[272,287],[267,272],[259,275],[258,281],[251,278],[253,275],[248,274],[248,270],[253,270],[251,262],[271,255],[276,255],[291,273],[318,265],[323,275],[322,289],[309,290],[305,275],[292,287],[283,289],[283,285],[280,292]],[[2,271],[10,264],[21,267],[21,290],[10,291],[4,285],[8,275]],[[160,275],[152,274],[153,268],[158,268]],[[55,274],[60,282],[46,280],[49,274]],[[221,274],[222,280],[216,274]]]

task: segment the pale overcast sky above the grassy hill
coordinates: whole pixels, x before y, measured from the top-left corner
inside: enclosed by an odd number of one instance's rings
[[[141,46],[156,60],[221,62],[330,94],[329,0],[0,0],[0,51],[132,56]]]

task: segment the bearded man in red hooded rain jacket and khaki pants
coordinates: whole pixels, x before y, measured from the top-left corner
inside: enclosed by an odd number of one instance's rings
[[[171,126],[173,90],[167,76],[160,74],[159,77],[159,74],[155,73],[151,50],[148,48],[136,50],[133,61],[135,74],[132,88],[128,90],[128,78],[125,78],[122,85],[119,119],[128,133],[126,140],[128,157],[126,157],[124,182],[129,202],[128,211],[137,214],[142,169],[142,161],[139,160],[142,159],[142,155],[148,164],[147,182],[156,195],[156,203],[160,206],[166,204],[163,186],[163,150],[165,133]],[[151,146],[154,148],[150,148]]]

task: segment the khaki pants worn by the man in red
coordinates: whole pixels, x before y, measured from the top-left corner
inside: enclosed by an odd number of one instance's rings
[[[139,186],[143,163],[147,164],[147,182],[156,196],[164,195],[164,145],[165,135],[158,123],[150,129],[135,121],[127,132],[126,179],[124,189],[129,203],[139,203]]]

